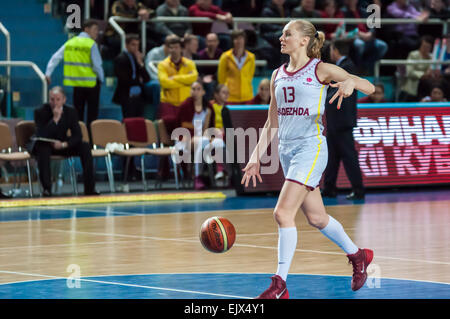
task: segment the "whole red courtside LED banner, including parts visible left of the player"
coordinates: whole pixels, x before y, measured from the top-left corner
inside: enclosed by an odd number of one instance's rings
[[[260,128],[267,109],[230,106],[227,127]],[[358,104],[353,136],[367,188],[450,184],[450,103]],[[237,175],[245,163],[238,164]],[[284,181],[281,165],[276,174],[265,175],[263,180],[255,188],[237,186],[237,191],[279,191]],[[337,187],[350,188],[342,163]]]

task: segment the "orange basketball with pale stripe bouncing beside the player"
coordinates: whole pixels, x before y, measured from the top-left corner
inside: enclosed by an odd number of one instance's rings
[[[224,217],[208,218],[200,229],[200,242],[205,249],[213,253],[226,252],[233,246],[235,239],[236,230]]]

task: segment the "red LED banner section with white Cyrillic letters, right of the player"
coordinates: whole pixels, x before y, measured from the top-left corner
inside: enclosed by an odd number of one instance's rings
[[[450,106],[360,108],[353,136],[366,187],[450,183]]]

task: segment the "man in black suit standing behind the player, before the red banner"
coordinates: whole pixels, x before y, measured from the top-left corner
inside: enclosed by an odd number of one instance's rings
[[[347,57],[351,42],[336,40],[330,45],[330,58],[337,66],[351,74],[355,74],[356,67]],[[339,164],[342,160],[347,177],[352,184],[352,193],[347,199],[363,199],[364,186],[361,169],[359,167],[358,153],[353,139],[353,128],[356,126],[356,90],[351,96],[344,99],[341,108],[337,109],[337,99],[330,104],[328,101],[336,93],[337,88],[330,87],[327,92],[326,119],[328,165],[325,170],[324,189],[322,196],[336,197],[336,180]]]

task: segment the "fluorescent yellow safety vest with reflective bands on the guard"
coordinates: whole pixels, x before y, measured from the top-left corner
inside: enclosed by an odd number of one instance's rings
[[[92,69],[91,38],[74,37],[64,47],[64,85],[94,87],[97,75]]]

